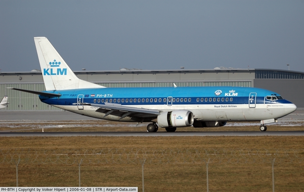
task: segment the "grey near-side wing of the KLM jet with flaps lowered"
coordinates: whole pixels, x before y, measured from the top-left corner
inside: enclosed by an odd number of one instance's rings
[[[99,107],[96,112],[105,113],[105,116],[115,115],[120,117],[133,117],[136,119],[156,118],[161,113],[155,109],[146,109],[139,107],[122,106],[116,103],[95,104],[90,103],[93,107]]]

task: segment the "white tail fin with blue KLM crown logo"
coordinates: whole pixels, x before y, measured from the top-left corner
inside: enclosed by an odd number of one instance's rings
[[[46,37],[34,37],[34,41],[43,75],[43,81],[47,91],[105,88],[79,79]]]

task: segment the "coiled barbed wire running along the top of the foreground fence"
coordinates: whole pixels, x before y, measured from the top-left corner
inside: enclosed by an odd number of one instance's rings
[[[33,150],[0,149],[0,164],[246,164],[304,163],[304,150],[104,148]],[[210,159],[210,160],[209,160]]]

